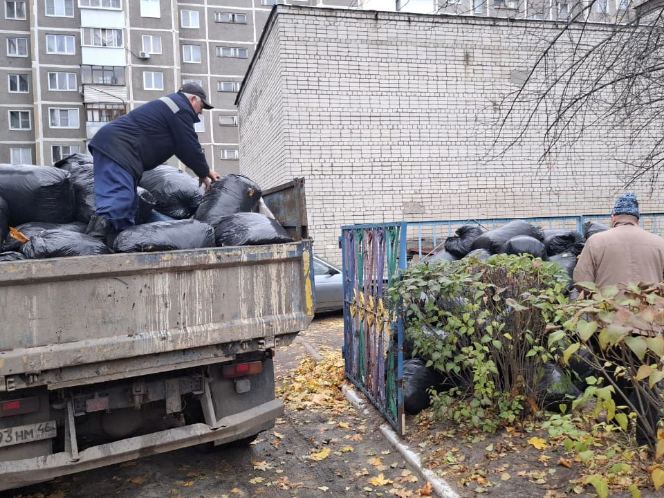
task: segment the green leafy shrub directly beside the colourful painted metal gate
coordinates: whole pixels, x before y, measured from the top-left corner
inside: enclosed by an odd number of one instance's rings
[[[432,393],[432,414],[495,432],[536,414],[543,365],[566,348],[549,343],[569,277],[528,255],[417,264],[389,289],[402,300],[414,355],[454,383]],[[560,342],[560,346],[558,345]]]

